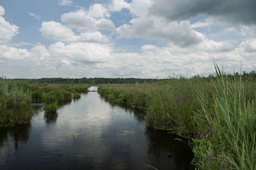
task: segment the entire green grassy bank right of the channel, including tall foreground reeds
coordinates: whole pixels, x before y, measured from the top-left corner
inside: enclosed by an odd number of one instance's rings
[[[100,85],[110,101],[146,111],[147,125],[192,139],[200,169],[256,169],[256,80],[223,75]]]

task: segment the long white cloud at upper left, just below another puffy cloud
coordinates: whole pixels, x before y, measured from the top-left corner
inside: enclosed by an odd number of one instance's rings
[[[55,39],[58,41],[86,41],[93,43],[108,43],[109,41],[108,36],[102,35],[99,31],[82,32],[79,35],[75,35],[72,29],[54,21],[42,22],[40,31],[45,38]]]

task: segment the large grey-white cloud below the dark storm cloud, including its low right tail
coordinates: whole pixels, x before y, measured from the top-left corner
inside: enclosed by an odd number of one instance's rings
[[[168,22],[158,17],[134,18],[131,25],[116,28],[120,38],[140,37],[156,39],[166,45],[186,47],[193,50],[227,51],[234,48],[228,42],[215,42],[205,38],[204,34],[195,31],[189,21]]]

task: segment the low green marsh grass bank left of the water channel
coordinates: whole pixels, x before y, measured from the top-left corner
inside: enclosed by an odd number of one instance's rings
[[[45,103],[45,111],[56,111],[72,98],[79,99],[90,85],[30,84],[26,81],[0,80],[0,127],[22,124],[32,116],[30,103]],[[17,102],[15,104],[14,96]]]

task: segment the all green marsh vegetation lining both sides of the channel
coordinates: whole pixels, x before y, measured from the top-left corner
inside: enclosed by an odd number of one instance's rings
[[[28,122],[32,115],[31,102],[44,103],[45,111],[56,111],[72,98],[79,99],[88,87],[79,83],[1,79],[0,125]],[[189,139],[195,167],[256,169],[255,71],[224,74],[216,66],[215,75],[208,77],[100,84],[98,92],[108,101],[145,111],[148,127]]]

